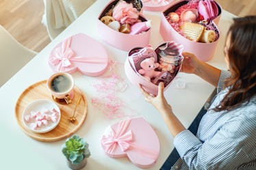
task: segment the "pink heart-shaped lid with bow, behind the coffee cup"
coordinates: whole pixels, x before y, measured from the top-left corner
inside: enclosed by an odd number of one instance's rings
[[[53,72],[79,71],[87,76],[100,76],[107,70],[105,48],[84,33],[66,38],[53,48],[49,66]]]

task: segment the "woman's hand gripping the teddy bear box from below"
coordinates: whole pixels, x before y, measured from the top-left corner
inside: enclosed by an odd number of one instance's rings
[[[159,83],[158,85],[158,94],[157,96],[152,96],[148,92],[146,92],[142,85],[139,85],[140,90],[142,91],[143,96],[145,97],[145,100],[147,102],[150,102],[153,104],[153,106],[160,112],[163,113],[165,111],[172,111],[172,107],[170,107],[170,104],[166,101],[166,98],[164,97],[164,83]]]

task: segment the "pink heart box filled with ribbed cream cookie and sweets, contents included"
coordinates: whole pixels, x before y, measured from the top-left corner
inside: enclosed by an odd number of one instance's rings
[[[174,40],[183,44],[184,51],[194,53],[201,61],[209,61],[214,56],[220,37],[220,31],[215,22],[220,19],[222,10],[218,3],[210,1],[216,15],[214,18],[207,13],[203,5],[205,3],[200,2],[203,0],[172,3],[161,14],[159,32],[165,41]]]

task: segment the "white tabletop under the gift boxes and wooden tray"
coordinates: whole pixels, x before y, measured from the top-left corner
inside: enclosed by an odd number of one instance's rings
[[[29,61],[15,76],[10,79],[0,89],[1,104],[1,169],[68,169],[66,158],[61,152],[61,145],[64,140],[57,142],[40,142],[28,137],[18,126],[14,109],[16,100],[20,94],[30,85],[47,79],[53,72],[48,66],[48,57],[52,48],[61,42],[64,38],[72,36],[75,33],[86,33],[95,40],[98,40],[110,57],[124,63],[127,56],[126,51],[120,51],[108,44],[105,44],[97,33],[97,17],[105,7],[107,1],[97,1],[91,8],[82,14],[75,22],[64,30],[60,36],[55,38],[46,48],[44,48],[34,59]],[[159,12],[144,12],[145,16],[153,20],[151,31],[151,45],[153,47],[162,43],[162,37],[159,35]],[[231,24],[233,14],[222,12],[220,18],[220,40],[215,53],[215,57],[209,61],[218,68],[225,69],[222,48],[224,46],[225,35]],[[125,78],[123,69],[120,70]],[[92,83],[101,77],[88,77],[76,72],[73,74],[75,85],[79,87],[88,99],[88,117],[77,134],[84,137],[90,144],[92,156],[88,159],[88,165],[84,169],[140,169],[133,165],[127,158],[110,158],[105,155],[101,148],[101,137],[103,131],[110,124],[118,122],[120,119],[106,119],[102,113],[95,109],[90,100],[94,97],[94,88]],[[181,120],[185,127],[188,127],[196,114],[199,113],[204,102],[214,87],[202,79],[191,74],[179,73],[179,80],[185,82],[185,89],[177,89],[171,85],[166,91],[165,96],[172,105],[173,111]],[[130,96],[129,96],[130,95]],[[136,111],[136,116],[142,116],[153,126],[160,141],[160,154],[156,165],[149,169],[159,169],[173,149],[173,138],[166,128],[162,117],[151,104],[144,101],[137,87],[129,84],[129,87],[123,92],[123,100],[128,100],[129,107]],[[135,97],[134,97],[135,96]]]

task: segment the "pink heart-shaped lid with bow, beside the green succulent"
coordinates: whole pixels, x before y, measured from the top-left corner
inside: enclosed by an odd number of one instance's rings
[[[101,139],[101,146],[107,156],[127,156],[140,168],[155,165],[160,150],[157,134],[142,117],[122,120],[108,127]]]

